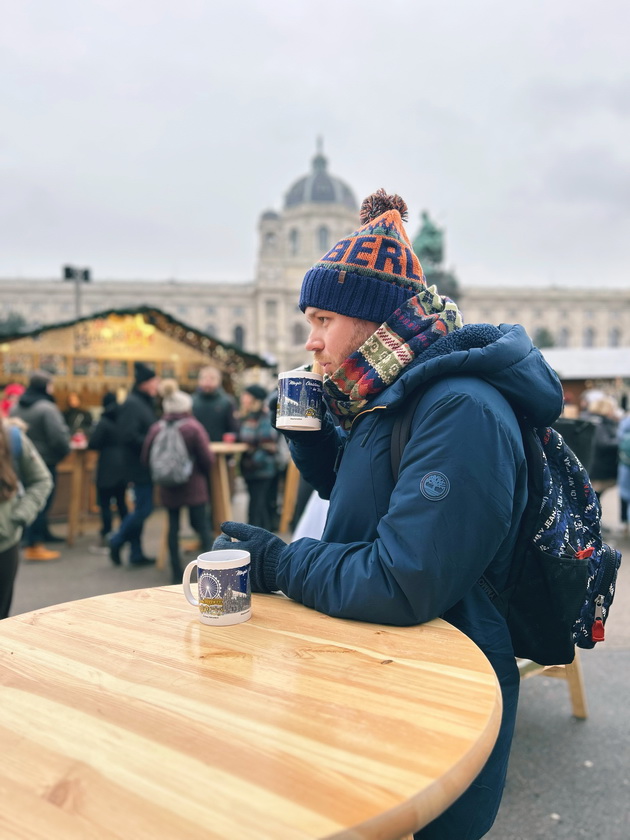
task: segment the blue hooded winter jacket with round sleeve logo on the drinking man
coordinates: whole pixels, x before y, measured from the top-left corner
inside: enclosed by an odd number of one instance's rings
[[[396,412],[428,380],[394,483]],[[481,837],[505,779],[518,672],[505,621],[477,580],[485,573],[502,586],[527,500],[510,405],[535,425],[550,425],[562,410],[558,378],[522,327],[469,325],[416,359],[348,433],[327,413],[321,432],[291,441],[300,472],[330,508],[321,541],[298,540],[282,551],[278,587],[342,618],[413,625],[442,616],[484,651],[501,683],[502,728],[474,804],[464,794],[464,817],[452,830],[446,824],[458,803],[423,838]]]

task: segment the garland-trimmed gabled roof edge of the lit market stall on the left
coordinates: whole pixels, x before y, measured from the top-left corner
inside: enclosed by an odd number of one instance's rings
[[[142,315],[145,321],[148,324],[152,324],[157,330],[195,350],[216,356],[228,368],[270,368],[273,366],[270,362],[263,359],[262,356],[257,356],[255,353],[247,353],[234,344],[226,344],[212,335],[200,332],[195,327],[191,327],[189,324],[177,320],[177,318],[174,318],[172,315],[155,306],[139,306],[130,309],[106,309],[101,312],[92,312],[90,315],[73,318],[70,321],[57,321],[53,324],[43,324],[41,327],[28,330],[27,332],[3,335],[0,341],[10,343],[20,338],[36,338],[42,333],[50,332],[51,330],[73,327],[76,324],[94,321],[98,318],[107,318],[110,315]],[[235,362],[236,365],[234,364]]]

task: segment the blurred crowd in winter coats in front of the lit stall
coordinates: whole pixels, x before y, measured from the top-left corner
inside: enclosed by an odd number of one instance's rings
[[[198,387],[191,395],[180,389],[175,380],[160,381],[143,362],[135,363],[133,385],[122,402],[118,402],[113,392],[104,394],[98,417],[81,404],[75,392],[68,395],[67,408],[61,411],[55,402],[53,377],[44,371],[36,371],[27,387],[16,383],[7,385],[2,393],[3,423],[7,429],[19,429],[20,440],[27,443],[20,447],[23,464],[20,461],[13,466],[9,462],[4,465],[9,473],[5,493],[15,495],[17,485],[10,476],[19,474],[25,487],[31,487],[26,502],[19,507],[19,515],[23,518],[23,510],[35,512],[32,519],[27,517],[28,522],[22,522],[23,533],[20,531],[16,542],[12,542],[11,556],[4,564],[9,570],[8,578],[14,577],[18,548],[27,561],[49,561],[60,556],[58,548],[51,543],[62,542],[63,538],[50,529],[48,514],[57,486],[57,465],[70,452],[72,444],[98,452],[94,480],[100,510],[99,536],[111,562],[117,566],[154,563],[155,558],[144,550],[143,530],[153,511],[154,487],[158,482],[152,475],[151,457],[163,424],[177,426],[192,463],[185,482],[158,487],[159,503],[168,512],[173,582],[181,581],[182,508],[187,509],[200,550],[212,547],[210,441],[247,444],[242,458],[232,463],[232,473],[240,469],[249,493],[252,524],[277,528],[279,482],[288,462],[288,449],[284,441],[279,441],[271,424],[267,397],[262,386],[250,385],[242,390],[237,401],[224,389],[221,371],[214,366],[200,370]],[[5,437],[3,431],[3,452],[8,458],[10,439]],[[36,461],[32,452],[38,456]],[[30,466],[32,460],[39,470]],[[20,467],[19,472],[16,466]],[[41,472],[47,476],[44,484],[41,484]],[[40,499],[43,487],[47,493]],[[7,601],[4,612],[8,614],[9,587],[3,587],[3,592]]]

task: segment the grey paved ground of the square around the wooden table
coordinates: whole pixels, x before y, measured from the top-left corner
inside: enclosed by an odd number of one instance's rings
[[[603,505],[604,522],[614,532],[619,529],[615,491],[604,496]],[[242,519],[242,493],[234,507],[235,518]],[[149,521],[148,554],[157,551],[162,522],[161,512]],[[63,534],[61,525],[54,530]],[[586,721],[571,716],[564,681],[523,682],[508,784],[488,840],[630,840],[630,540],[611,536],[609,542],[624,553],[625,566],[607,640],[582,654],[590,716]],[[62,546],[58,561],[22,564],[12,614],[168,583],[167,569],[113,567],[98,553],[93,532],[72,548]]]

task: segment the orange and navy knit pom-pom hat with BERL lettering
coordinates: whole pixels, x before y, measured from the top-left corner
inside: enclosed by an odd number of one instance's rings
[[[382,324],[426,282],[403,222],[407,205],[380,189],[361,205],[362,227],[306,272],[300,309],[326,309]]]

